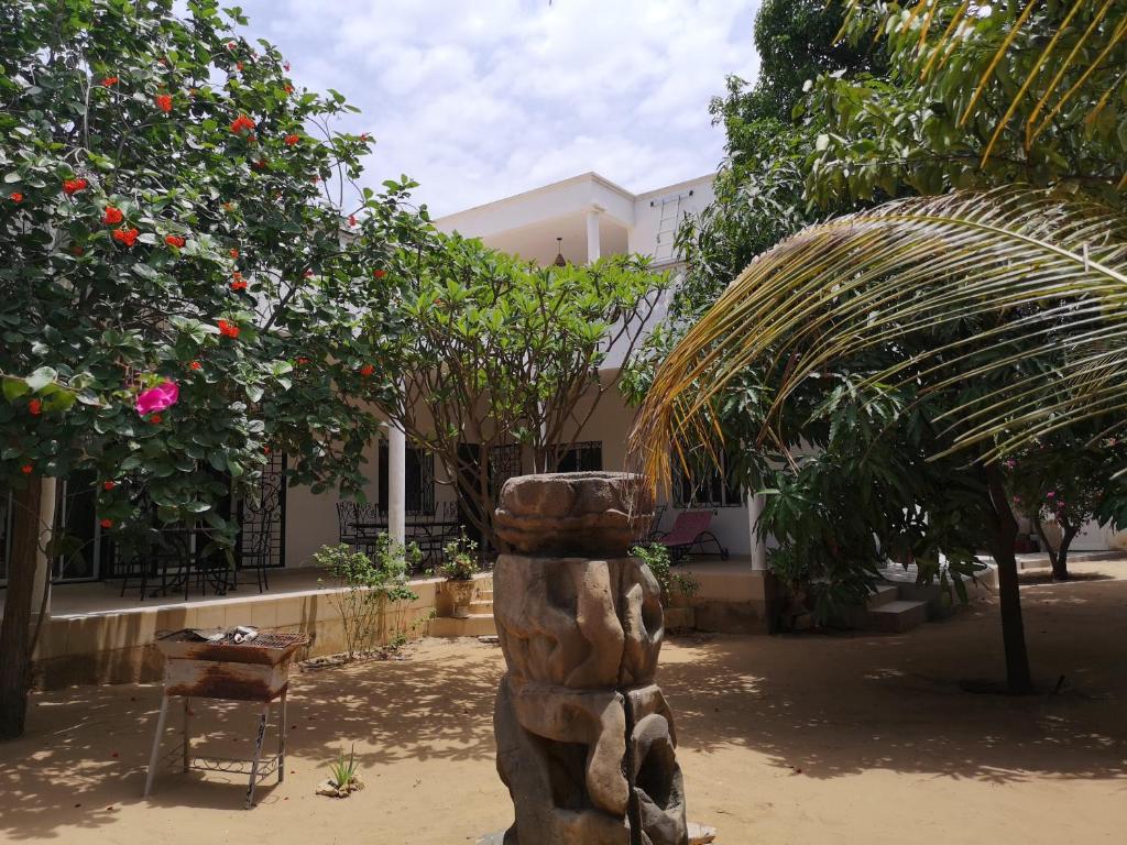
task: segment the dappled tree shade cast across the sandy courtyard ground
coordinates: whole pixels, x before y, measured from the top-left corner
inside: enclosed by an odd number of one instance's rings
[[[992,598],[902,635],[675,638],[659,682],[683,747],[746,748],[747,765],[765,759],[799,776],[873,768],[1003,783],[1127,775],[1127,581],[1036,587],[1023,602],[1035,669],[1045,679],[1066,675],[1062,694],[960,691],[962,678],[1002,673]],[[394,777],[399,760],[433,759],[472,762],[482,779],[495,779],[491,712],[502,670],[499,649],[462,642],[296,675],[290,766],[316,766],[321,777],[355,741],[373,777]],[[109,825],[123,800],[142,803],[159,695],[147,685],[35,696],[28,736],[0,745],[0,838],[65,839],[69,829]],[[213,702],[196,711],[201,750],[249,749],[254,706]],[[178,728],[172,719],[166,749]],[[236,776],[193,775],[174,789],[177,777],[158,779],[149,803],[241,807]],[[259,801],[275,800],[264,784]]]

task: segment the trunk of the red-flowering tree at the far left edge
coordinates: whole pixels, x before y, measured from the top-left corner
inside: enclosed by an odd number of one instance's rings
[[[38,479],[28,479],[26,490],[12,495],[11,560],[8,595],[0,623],[0,739],[24,735],[27,693],[30,687],[32,597],[39,548]]]

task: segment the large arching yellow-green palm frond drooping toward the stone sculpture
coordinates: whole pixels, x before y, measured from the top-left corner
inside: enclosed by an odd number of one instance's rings
[[[983,329],[953,330],[967,320]],[[630,437],[633,466],[667,481],[671,441],[676,454],[715,436],[712,407],[748,367],[780,373],[762,441],[808,376],[944,327],[955,339],[869,382],[988,386],[947,415],[952,450],[996,456],[1070,417],[1127,408],[1127,217],[1006,188],[896,201],[802,230],[753,260],[666,358]],[[1028,375],[1021,365],[1033,361],[1050,362],[1054,377]]]

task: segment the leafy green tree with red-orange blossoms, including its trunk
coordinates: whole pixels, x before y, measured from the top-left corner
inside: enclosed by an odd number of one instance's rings
[[[42,478],[92,473],[122,539],[198,519],[229,549],[219,505],[269,451],[294,481],[356,487],[376,432],[356,327],[424,225],[411,185],[354,190],[371,142],[331,131],[344,98],[295,90],[213,0],[188,9],[0,7],[0,737],[24,723]]]

